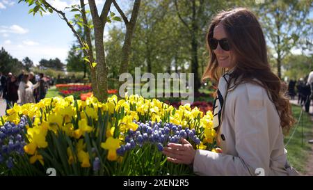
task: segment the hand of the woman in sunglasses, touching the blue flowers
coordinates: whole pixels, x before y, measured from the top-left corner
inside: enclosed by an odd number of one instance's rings
[[[181,138],[182,144],[169,143],[168,147],[163,149],[163,154],[168,157],[168,161],[175,164],[193,164],[195,159],[195,150],[193,145],[186,139]]]

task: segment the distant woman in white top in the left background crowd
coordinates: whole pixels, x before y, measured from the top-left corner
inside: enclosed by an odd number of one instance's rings
[[[19,83],[19,103],[22,105],[27,103],[35,103],[33,90],[38,88],[38,86],[38,83],[33,85],[31,81],[29,81],[29,74],[24,74],[22,81]]]

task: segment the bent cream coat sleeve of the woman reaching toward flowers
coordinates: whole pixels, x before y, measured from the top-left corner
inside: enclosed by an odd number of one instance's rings
[[[198,175],[264,175],[270,173],[268,120],[262,88],[250,88],[234,100],[234,136],[238,156],[197,150],[193,171]],[[266,95],[267,96],[267,95]],[[227,140],[226,140],[227,141]]]

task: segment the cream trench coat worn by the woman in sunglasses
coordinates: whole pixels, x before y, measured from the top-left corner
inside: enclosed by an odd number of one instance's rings
[[[298,174],[287,164],[280,117],[264,88],[246,83],[228,90],[222,117],[218,141],[223,153],[197,150],[195,174]]]

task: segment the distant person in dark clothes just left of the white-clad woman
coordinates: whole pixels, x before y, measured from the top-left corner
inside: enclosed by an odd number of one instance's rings
[[[17,94],[18,89],[19,89],[19,81],[17,81],[17,78],[15,77],[15,75],[11,75],[11,77],[8,79],[8,84],[7,84],[8,103],[6,105],[6,109],[10,109],[10,107],[14,106],[14,104],[17,103],[17,100],[19,99],[19,96]]]

